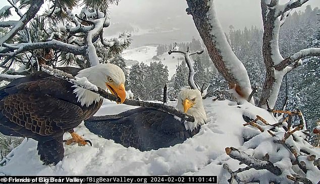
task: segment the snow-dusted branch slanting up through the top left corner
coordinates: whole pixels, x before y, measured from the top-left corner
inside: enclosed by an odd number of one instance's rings
[[[5,34],[3,37],[0,37],[0,45],[5,43],[7,40],[13,38],[18,31],[22,30],[25,25],[37,14],[41,5],[43,4],[43,0],[33,0],[32,4],[28,11],[23,15],[23,17],[16,23],[15,27],[13,27],[9,33]]]

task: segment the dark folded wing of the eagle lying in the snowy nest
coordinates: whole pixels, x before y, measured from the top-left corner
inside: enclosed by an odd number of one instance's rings
[[[173,146],[192,136],[173,115],[147,107],[93,116],[85,120],[85,126],[94,134],[141,151]]]

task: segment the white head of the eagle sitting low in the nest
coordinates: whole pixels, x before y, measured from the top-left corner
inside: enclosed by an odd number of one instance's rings
[[[194,130],[205,124],[206,114],[202,104],[202,96],[197,89],[182,89],[178,95],[178,110],[194,117],[194,122],[185,122],[187,130]]]

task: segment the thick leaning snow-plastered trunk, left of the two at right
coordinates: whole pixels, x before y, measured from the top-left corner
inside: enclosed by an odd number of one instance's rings
[[[219,73],[226,79],[230,88],[248,99],[251,84],[241,61],[229,45],[225,33],[218,21],[214,1],[187,0],[187,14],[192,15],[194,24],[208,50],[212,62]],[[254,103],[253,100],[251,100]]]

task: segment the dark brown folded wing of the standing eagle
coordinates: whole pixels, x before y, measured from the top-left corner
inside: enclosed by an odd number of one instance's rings
[[[71,83],[52,76],[25,80],[0,90],[3,134],[44,141],[61,137],[80,124],[82,109],[66,95]]]

